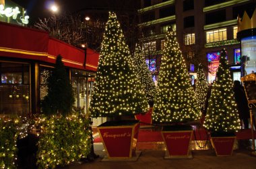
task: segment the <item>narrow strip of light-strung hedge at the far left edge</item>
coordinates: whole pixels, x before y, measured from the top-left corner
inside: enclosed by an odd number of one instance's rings
[[[0,168],[16,168],[17,124],[0,118]]]

